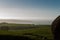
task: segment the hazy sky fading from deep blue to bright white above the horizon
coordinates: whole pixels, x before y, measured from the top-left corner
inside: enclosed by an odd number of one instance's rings
[[[60,15],[60,0],[0,0],[1,19],[52,20]]]

